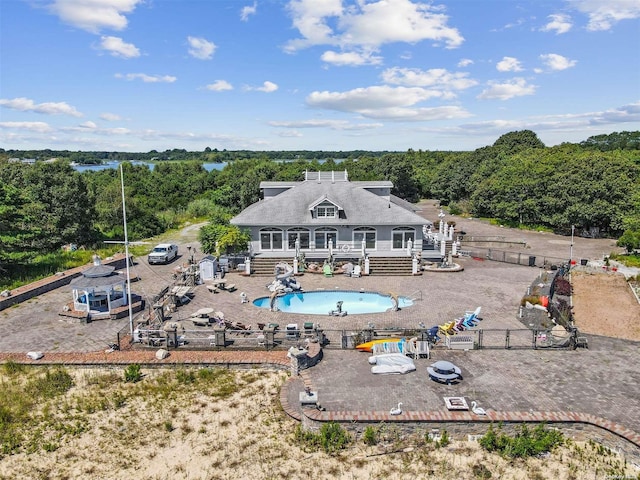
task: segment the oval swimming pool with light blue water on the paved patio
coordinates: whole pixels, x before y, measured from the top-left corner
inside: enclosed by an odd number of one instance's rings
[[[307,315],[329,315],[342,302],[342,311],[348,315],[381,313],[394,308],[390,294],[378,292],[358,292],[352,290],[315,290],[312,292],[291,292],[275,298],[275,307],[285,313]],[[271,308],[271,297],[260,297],[253,301],[256,307]],[[408,297],[398,297],[398,308],[413,305]]]

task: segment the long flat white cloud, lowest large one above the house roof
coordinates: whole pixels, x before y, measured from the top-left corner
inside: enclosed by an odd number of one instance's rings
[[[456,106],[416,108],[417,103],[442,97],[441,92],[419,87],[374,86],[346,92],[312,92],[307,105],[314,108],[358,113],[367,118],[424,121],[469,116]]]

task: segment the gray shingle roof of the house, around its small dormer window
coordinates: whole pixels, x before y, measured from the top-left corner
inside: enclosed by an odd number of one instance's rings
[[[429,223],[412,210],[404,201],[391,201],[363,188],[390,186],[390,182],[298,182],[292,188],[275,197],[261,200],[247,207],[231,220],[238,226],[280,225],[424,225]],[[309,206],[326,195],[344,209],[346,219],[311,217]],[[397,203],[396,203],[397,202]],[[399,205],[402,204],[402,205]],[[409,204],[410,205],[410,204]]]

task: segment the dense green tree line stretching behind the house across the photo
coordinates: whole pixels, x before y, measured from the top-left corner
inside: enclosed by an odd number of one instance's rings
[[[128,234],[132,241],[149,238],[207,218],[212,226],[202,236],[213,251],[224,238],[243,238],[228,221],[260,199],[260,182],[299,181],[305,170],[347,170],[351,180],[390,180],[392,193],[410,202],[437,199],[451,213],[564,234],[573,226],[619,238],[632,250],[640,248],[639,138],[640,132],[623,132],[546,147],[524,130],[474,151],[359,151],[340,158],[316,152],[316,158],[294,155],[287,162],[273,160],[281,152],[254,152],[210,172],[202,159],[159,162],[153,170],[125,162]],[[8,160],[15,156],[0,152],[0,275],[3,267],[6,274],[7,266],[65,244],[92,248],[123,238],[118,170],[79,173],[68,158],[29,165]]]

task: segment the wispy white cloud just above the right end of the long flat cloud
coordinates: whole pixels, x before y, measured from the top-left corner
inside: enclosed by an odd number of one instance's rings
[[[411,87],[438,87],[443,90],[464,90],[478,84],[466,72],[452,73],[444,68],[420,70],[417,68],[388,68],[382,72],[386,83]]]

